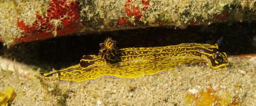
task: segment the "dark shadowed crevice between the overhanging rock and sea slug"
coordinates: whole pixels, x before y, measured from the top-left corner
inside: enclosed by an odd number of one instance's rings
[[[170,26],[133,30],[92,33],[87,35],[62,36],[44,41],[21,43],[7,49],[0,46],[0,55],[23,62],[41,70],[59,70],[78,64],[83,55],[97,55],[99,43],[107,37],[116,40],[117,47],[157,47],[177,45],[186,42],[215,44],[224,36],[221,52],[228,55],[256,53],[253,37],[256,36],[256,22],[219,23],[188,26],[175,29]]]

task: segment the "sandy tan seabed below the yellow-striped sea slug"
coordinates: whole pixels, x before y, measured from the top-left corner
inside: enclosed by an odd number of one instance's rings
[[[256,106],[256,57],[229,61],[217,70],[181,65],[134,80],[101,77],[74,83],[44,79],[39,71],[2,58],[0,92],[14,89],[12,106]]]

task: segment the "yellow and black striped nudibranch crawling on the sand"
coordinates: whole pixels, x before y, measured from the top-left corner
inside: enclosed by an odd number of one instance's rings
[[[116,41],[107,38],[100,44],[99,55],[86,55],[80,63],[63,70],[43,73],[45,78],[57,75],[63,81],[86,81],[101,76],[139,78],[172,70],[180,64],[206,63],[217,69],[229,64],[226,53],[218,52],[223,37],[215,45],[183,43],[165,47],[116,49]]]

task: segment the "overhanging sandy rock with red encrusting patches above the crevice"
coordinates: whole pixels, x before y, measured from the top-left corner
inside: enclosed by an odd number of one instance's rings
[[[72,33],[254,21],[255,0],[2,0],[6,45]]]

